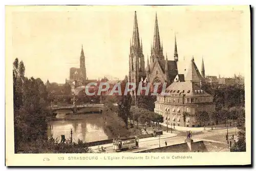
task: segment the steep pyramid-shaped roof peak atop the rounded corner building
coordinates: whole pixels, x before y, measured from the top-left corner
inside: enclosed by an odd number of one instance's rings
[[[185,81],[200,82],[201,80],[203,80],[203,77],[200,74],[193,57],[193,59],[190,61]]]

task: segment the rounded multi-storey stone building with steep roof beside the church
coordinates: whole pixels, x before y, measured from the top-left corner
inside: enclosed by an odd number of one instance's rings
[[[213,96],[206,93],[201,87],[204,79],[200,74],[194,58],[191,59],[190,65],[185,76],[184,82],[174,82],[166,88],[170,93],[168,96],[157,96],[155,102],[155,112],[164,117],[164,123],[178,126],[198,127],[203,126],[197,117],[200,111],[206,111],[209,115],[214,112],[215,105]],[[183,112],[189,115],[183,118]],[[211,115],[209,116],[211,118]],[[206,125],[211,124],[208,120]]]

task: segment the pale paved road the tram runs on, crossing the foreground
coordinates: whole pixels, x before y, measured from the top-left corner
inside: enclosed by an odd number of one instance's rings
[[[214,130],[214,131],[205,131],[200,135],[192,135],[192,139],[194,141],[198,141],[200,139],[207,139],[207,137],[220,137],[221,139],[223,139],[223,137],[225,137],[227,133],[226,129],[223,130]],[[228,133],[229,136],[231,136],[232,134],[235,133],[235,129],[228,129]],[[218,141],[218,139],[216,138],[216,141]],[[169,138],[161,138],[160,139],[160,146],[165,145],[164,142],[165,140],[167,141],[167,145],[173,145],[173,144],[179,144],[179,143],[184,143],[184,140],[186,139],[185,136],[176,136],[176,137],[169,137]],[[133,153],[133,152],[138,152],[144,149],[150,149],[150,148],[157,148],[159,147],[159,138],[155,138],[152,140],[148,140],[148,141],[143,141],[143,139],[140,140],[139,142],[139,148],[136,149],[129,149],[127,151],[122,151],[122,152],[115,152],[113,151],[113,147],[112,144],[104,144],[104,145],[100,145],[100,147],[106,147],[106,153]],[[92,146],[90,148],[92,148],[94,151],[98,151],[98,147],[99,146]]]

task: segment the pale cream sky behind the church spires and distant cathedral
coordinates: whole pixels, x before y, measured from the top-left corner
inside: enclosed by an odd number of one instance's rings
[[[123,79],[129,72],[134,11],[145,62],[151,53],[157,13],[168,60],[174,59],[176,32],[180,73],[194,56],[199,70],[203,57],[206,75],[245,75],[250,26],[249,16],[240,8],[31,6],[10,11],[12,59],[24,61],[26,76],[45,82],[64,83],[69,79],[69,69],[79,67],[82,45],[89,79],[105,75]]]

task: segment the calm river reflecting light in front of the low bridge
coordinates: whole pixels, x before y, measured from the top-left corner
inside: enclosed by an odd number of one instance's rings
[[[66,139],[71,138],[73,142],[78,139],[92,142],[113,138],[110,131],[105,129],[102,114],[79,114],[66,115],[70,111],[56,111],[57,116],[54,121],[48,121],[48,136],[53,136],[59,141],[61,135],[65,135]]]

